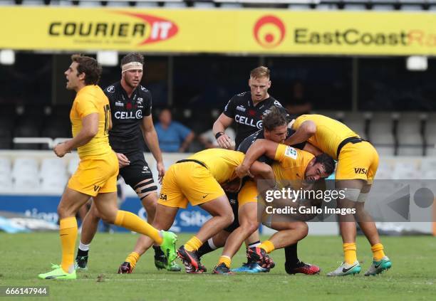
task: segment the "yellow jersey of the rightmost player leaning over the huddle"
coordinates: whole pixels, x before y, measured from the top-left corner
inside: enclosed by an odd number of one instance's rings
[[[307,141],[335,160],[338,159],[336,152],[338,151],[339,144],[343,142],[343,139],[359,137],[358,134],[353,132],[342,122],[323,115],[301,115],[295,120],[292,128],[298,130],[300,125],[306,120],[311,120],[316,124],[316,133]]]

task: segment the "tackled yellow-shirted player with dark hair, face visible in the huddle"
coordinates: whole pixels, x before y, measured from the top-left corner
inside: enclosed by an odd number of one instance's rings
[[[284,137],[286,137],[286,134],[284,134]],[[335,168],[335,162],[327,154],[319,154],[314,157],[313,154],[300,149],[294,149],[294,147],[278,144],[267,139],[257,139],[256,142],[252,144],[252,147],[249,148],[248,152],[246,152],[242,167],[237,167],[237,174],[241,169],[246,168],[245,170],[248,170],[252,162],[263,155],[276,161],[271,167],[274,171],[274,178],[277,183],[296,180],[293,181],[293,183],[298,187],[296,186],[294,189],[300,189],[302,187],[301,184],[305,181],[312,182],[325,179],[333,173]],[[242,174],[242,176],[244,175],[245,173]],[[257,197],[258,191],[256,184],[254,181],[247,181],[238,194],[239,208],[244,209],[244,205],[247,203],[255,204]],[[253,232],[259,226],[256,206],[251,208],[251,211],[254,211],[254,215],[251,215],[250,219],[250,223],[254,225],[251,228],[251,232]],[[244,221],[242,221],[241,224],[244,225]],[[266,271],[269,271],[269,268],[274,267],[274,263],[267,254],[275,249],[284,248],[287,245],[301,241],[308,233],[308,226],[304,221],[271,220],[264,224],[278,232],[274,233],[268,241],[264,241],[264,243],[261,243],[258,247],[249,248],[248,256],[249,259],[257,262],[262,268],[266,268]],[[242,226],[239,228],[242,228]],[[239,232],[241,231],[239,231],[239,228],[233,231],[227,238],[222,256],[219,258],[218,264],[214,268],[214,273],[231,273],[229,270],[231,258],[237,253],[237,250],[239,250],[242,242],[246,238],[240,236]],[[244,234],[245,236],[249,236],[251,233]]]

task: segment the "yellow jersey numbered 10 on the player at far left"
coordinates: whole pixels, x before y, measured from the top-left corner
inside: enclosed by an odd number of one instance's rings
[[[78,91],[71,107],[70,120],[73,137],[82,130],[82,118],[98,113],[98,133],[87,144],[78,147],[81,159],[87,156],[100,156],[112,152],[109,145],[110,106],[108,97],[98,85],[86,85]]]

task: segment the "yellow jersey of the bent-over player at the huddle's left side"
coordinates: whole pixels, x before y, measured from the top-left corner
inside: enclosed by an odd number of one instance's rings
[[[234,173],[239,165],[244,161],[245,154],[229,149],[205,149],[197,152],[187,159],[197,160],[204,163],[212,176],[219,184],[232,180],[237,177]]]

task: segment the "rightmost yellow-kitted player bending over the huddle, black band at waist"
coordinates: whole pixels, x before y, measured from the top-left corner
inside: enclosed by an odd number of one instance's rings
[[[338,199],[338,206],[356,210],[354,215],[339,216],[345,259],[343,264],[327,275],[360,273],[355,245],[356,220],[373,251],[373,263],[365,276],[388,270],[392,263],[383,251],[375,223],[364,209],[378,167],[378,154],[373,145],[361,139],[343,123],[323,115],[302,115],[295,120],[292,128],[296,132],[286,139],[286,144],[307,140],[338,161],[336,188],[346,189],[346,199]]]

